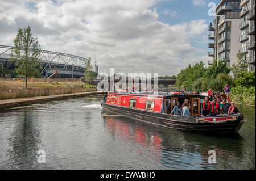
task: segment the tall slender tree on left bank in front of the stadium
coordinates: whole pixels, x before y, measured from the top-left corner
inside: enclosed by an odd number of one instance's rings
[[[18,67],[16,73],[26,78],[40,74],[40,45],[38,39],[32,37],[30,26],[19,28],[16,38],[13,40],[14,48],[11,50],[10,60],[15,61]]]

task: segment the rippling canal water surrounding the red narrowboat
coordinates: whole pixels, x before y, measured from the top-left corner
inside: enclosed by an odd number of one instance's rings
[[[214,137],[110,115],[101,102],[89,96],[1,111],[0,169],[255,169],[255,107],[237,105],[247,117],[240,136]],[[42,150],[46,162],[38,163]]]

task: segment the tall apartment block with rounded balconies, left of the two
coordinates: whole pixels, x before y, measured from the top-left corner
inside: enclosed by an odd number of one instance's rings
[[[241,49],[239,37],[241,36],[241,7],[240,0],[221,0],[216,6],[214,12],[213,24],[209,26],[209,40],[213,40],[208,44],[208,48],[213,48],[208,52],[208,56],[220,61],[227,61],[230,68],[236,64],[236,54]],[[211,65],[212,61],[208,61]]]

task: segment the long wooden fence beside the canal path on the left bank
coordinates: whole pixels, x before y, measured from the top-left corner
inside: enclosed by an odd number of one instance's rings
[[[32,96],[71,94],[71,93],[77,93],[77,92],[90,92],[90,91],[96,91],[96,89],[95,88],[85,89],[82,87],[9,89],[6,87],[0,87],[0,100],[28,98]]]

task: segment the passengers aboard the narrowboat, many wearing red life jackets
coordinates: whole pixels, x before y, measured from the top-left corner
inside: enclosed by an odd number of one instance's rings
[[[183,87],[182,91],[185,90]],[[238,109],[235,103],[229,98],[230,88],[226,84],[224,87],[224,92],[213,92],[212,89],[208,91],[208,96],[205,97],[203,103],[201,104],[201,116],[218,116],[218,115],[234,115],[238,113]],[[191,106],[189,100],[185,99],[184,103],[180,107],[179,102],[175,102],[175,107],[173,108],[171,115],[180,116],[191,116],[190,114]]]

